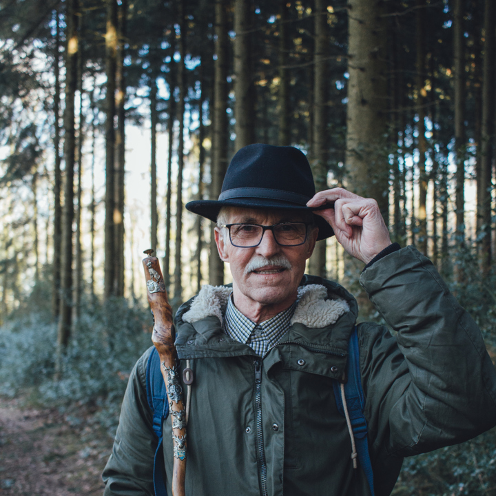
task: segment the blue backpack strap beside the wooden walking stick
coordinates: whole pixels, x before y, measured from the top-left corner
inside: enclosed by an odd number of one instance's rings
[[[167,391],[161,372],[160,356],[156,348],[149,356],[146,373],[147,400],[153,412],[153,431],[158,438],[158,446],[154,457],[154,489],[155,496],[167,496],[165,488],[165,468],[163,458],[163,421],[169,416],[169,402]]]

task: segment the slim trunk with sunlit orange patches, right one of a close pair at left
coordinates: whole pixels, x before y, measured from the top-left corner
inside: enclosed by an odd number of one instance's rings
[[[124,204],[125,204],[125,99],[126,83],[124,74],[124,45],[127,39],[126,32],[127,0],[121,0],[118,6],[118,53],[116,63],[116,112],[117,112],[117,132],[116,132],[116,170],[115,170],[115,279],[116,296],[124,296]]]

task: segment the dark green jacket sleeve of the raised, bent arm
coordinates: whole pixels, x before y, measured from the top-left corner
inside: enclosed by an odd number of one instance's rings
[[[366,269],[360,283],[395,337],[360,324],[365,414],[375,452],[424,453],[496,424],[496,371],[471,316],[433,264],[406,247]]]

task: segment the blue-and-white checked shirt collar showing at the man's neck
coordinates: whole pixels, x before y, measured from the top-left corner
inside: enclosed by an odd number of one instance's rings
[[[264,357],[291,327],[291,318],[295,308],[296,302],[289,309],[278,313],[269,320],[256,324],[234,306],[231,293],[224,316],[224,330],[229,337],[248,344],[257,355]]]

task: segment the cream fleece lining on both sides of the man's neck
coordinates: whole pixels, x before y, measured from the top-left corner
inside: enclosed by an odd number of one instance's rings
[[[223,315],[231,292],[231,287],[204,285],[189,310],[183,314],[183,320],[192,324],[215,316],[220,320],[220,324],[223,324]],[[304,285],[298,287],[298,303],[291,324],[300,323],[312,329],[322,329],[335,324],[338,318],[348,311],[349,305],[345,300],[329,299],[326,287]]]

